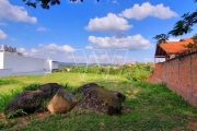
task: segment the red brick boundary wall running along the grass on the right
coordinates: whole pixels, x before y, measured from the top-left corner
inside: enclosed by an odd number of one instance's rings
[[[157,63],[149,82],[165,83],[170,90],[197,107],[197,53]]]

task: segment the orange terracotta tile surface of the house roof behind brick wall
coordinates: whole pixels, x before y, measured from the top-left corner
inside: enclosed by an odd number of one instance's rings
[[[189,43],[193,43],[192,38],[181,39],[179,41],[162,43],[159,46],[169,55],[181,55],[186,50],[184,45],[186,46]]]

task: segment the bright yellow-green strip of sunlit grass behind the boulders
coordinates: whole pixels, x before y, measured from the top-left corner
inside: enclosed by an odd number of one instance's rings
[[[24,85],[33,83],[69,83],[73,86],[80,86],[88,82],[97,81],[128,81],[126,78],[117,75],[108,75],[107,78],[102,74],[79,74],[79,73],[51,73],[45,75],[22,75],[22,76],[7,76],[0,78],[0,93],[9,93],[11,90],[21,90]]]

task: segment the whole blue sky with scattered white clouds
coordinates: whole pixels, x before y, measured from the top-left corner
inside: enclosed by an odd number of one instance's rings
[[[0,0],[0,45],[61,62],[153,62],[152,37],[167,33],[196,5],[193,0],[61,0],[44,10],[22,0]],[[171,39],[190,37],[195,28]]]

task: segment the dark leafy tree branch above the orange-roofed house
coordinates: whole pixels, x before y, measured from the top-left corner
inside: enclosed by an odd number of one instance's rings
[[[197,2],[197,0],[194,0],[194,2]],[[185,13],[179,21],[177,21],[173,27],[172,31],[170,31],[167,34],[160,34],[153,37],[153,39],[157,40],[158,44],[160,44],[163,40],[167,40],[167,38],[172,36],[181,36],[187,33],[190,33],[193,31],[193,26],[197,23],[197,10],[193,13]],[[160,37],[162,36],[162,37]],[[166,39],[164,39],[166,38]]]

